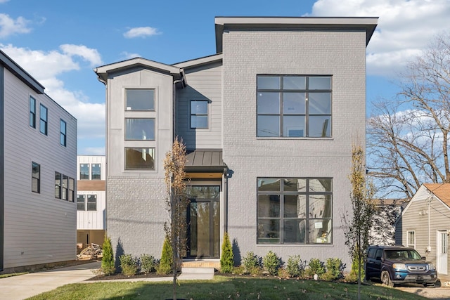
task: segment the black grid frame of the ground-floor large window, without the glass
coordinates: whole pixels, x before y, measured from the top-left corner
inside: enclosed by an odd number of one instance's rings
[[[264,181],[264,179],[268,180],[274,180],[275,182],[279,181],[279,190],[259,190],[259,182]],[[304,180],[304,190],[300,191],[297,187],[297,190],[284,190],[284,184],[287,179],[295,179],[295,180]],[[330,190],[325,191],[314,191],[311,190],[310,181],[313,180],[327,180],[330,181]],[[323,185],[322,185],[323,186]],[[310,216],[311,212],[309,211],[311,203],[314,204],[314,196],[323,196],[323,199],[328,202],[329,201],[329,217],[321,216],[321,218],[314,218]],[[278,216],[259,216],[259,205],[260,200],[259,196],[269,196],[269,197],[276,197],[278,196]],[[286,198],[286,196],[288,196]],[[304,217],[300,216],[288,216],[285,211],[285,202],[286,199],[289,199],[289,196],[296,196],[297,199],[299,196],[304,196]],[[274,198],[269,198],[274,199]],[[269,200],[270,203],[270,200]],[[274,209],[274,206],[271,207],[271,209]],[[276,209],[276,206],[275,206]],[[298,209],[298,207],[297,207]],[[275,213],[276,214],[276,213]],[[297,213],[299,214],[299,213]],[[314,222],[316,220],[316,222]],[[319,220],[321,220],[321,223],[323,225],[324,221],[329,222],[328,228],[324,228],[323,230],[320,230],[321,227],[313,228],[312,230],[325,232],[326,235],[317,235],[314,237],[314,239],[311,240],[312,236],[310,231],[311,230],[311,222],[314,222],[314,224],[319,224]],[[264,224],[266,221],[271,222],[272,224],[276,224],[278,221],[278,237],[276,236],[276,232],[274,236],[267,236],[266,233],[268,230],[264,228]],[[285,242],[286,237],[288,235],[285,232],[285,223],[290,222],[304,222],[304,242]],[[319,229],[319,230],[317,230]],[[328,232],[326,232],[325,229],[329,229]],[[272,230],[273,231],[273,230]],[[298,232],[299,234],[300,231]],[[257,244],[333,244],[333,178],[330,177],[258,177],[257,178]],[[320,242],[319,242],[320,240]]]

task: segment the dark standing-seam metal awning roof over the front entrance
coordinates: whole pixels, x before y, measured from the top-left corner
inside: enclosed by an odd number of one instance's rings
[[[187,151],[186,172],[224,172],[227,169],[221,149]]]

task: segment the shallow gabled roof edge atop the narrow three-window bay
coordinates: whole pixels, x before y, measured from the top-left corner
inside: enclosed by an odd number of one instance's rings
[[[142,67],[144,69],[154,70],[155,72],[162,72],[164,74],[172,75],[175,83],[186,86],[186,78],[184,77],[184,70],[182,68],[174,67],[173,65],[166,65],[165,63],[158,63],[145,58],[131,58],[130,60],[123,60],[118,63],[103,65],[101,67],[96,67],[94,72],[96,72],[98,79],[105,83],[110,74],[123,72],[124,70],[135,67]]]

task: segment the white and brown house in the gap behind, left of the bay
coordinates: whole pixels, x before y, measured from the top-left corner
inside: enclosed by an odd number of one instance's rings
[[[106,195],[105,156],[77,156],[77,246],[103,244]]]

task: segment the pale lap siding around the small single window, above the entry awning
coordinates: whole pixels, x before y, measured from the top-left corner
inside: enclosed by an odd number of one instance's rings
[[[188,86],[176,91],[176,135],[187,149],[222,148],[222,64],[185,69]],[[208,101],[208,128],[191,129],[191,100]]]

